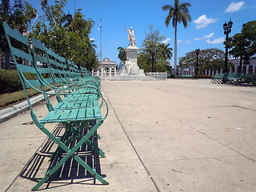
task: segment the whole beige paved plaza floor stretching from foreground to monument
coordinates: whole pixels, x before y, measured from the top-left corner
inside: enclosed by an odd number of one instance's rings
[[[109,116],[98,130],[106,153],[98,164],[110,185],[81,177],[70,161],[66,176],[39,190],[256,191],[255,87],[209,79],[105,80],[102,94]],[[39,118],[47,111],[44,102],[34,110]],[[28,110],[2,122],[0,131],[0,191],[30,191],[50,163],[42,150],[54,145]]]

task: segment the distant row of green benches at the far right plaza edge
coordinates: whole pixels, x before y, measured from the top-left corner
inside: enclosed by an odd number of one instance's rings
[[[256,85],[256,73],[254,74],[215,74],[211,82],[213,83],[230,83],[233,85],[243,86],[255,86]]]

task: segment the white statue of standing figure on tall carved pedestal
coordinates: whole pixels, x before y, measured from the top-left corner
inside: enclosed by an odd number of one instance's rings
[[[127,28],[126,28],[127,30]],[[136,46],[136,39],[134,35],[134,30],[130,27],[128,31],[128,40],[130,41],[130,45],[126,47],[126,63],[125,63],[125,71],[126,74],[132,75],[142,75],[144,76],[144,70],[140,70],[137,64],[138,57],[138,47]]]

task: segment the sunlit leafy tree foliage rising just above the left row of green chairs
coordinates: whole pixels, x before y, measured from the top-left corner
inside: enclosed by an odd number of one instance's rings
[[[98,67],[94,49],[96,46],[94,41],[90,40],[94,21],[91,18],[85,19],[81,9],[77,10],[72,21],[67,21],[63,10],[65,5],[66,0],[55,1],[54,6],[45,2],[42,5],[44,14],[30,34],[63,58],[92,70]]]

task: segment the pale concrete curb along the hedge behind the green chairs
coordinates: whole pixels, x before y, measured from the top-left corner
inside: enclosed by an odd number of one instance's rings
[[[54,90],[51,90],[49,93],[54,93]],[[49,95],[49,97],[50,96],[52,95]],[[45,98],[43,97],[42,94],[40,94],[34,98],[30,98],[30,103],[31,103],[31,106],[36,106],[44,100]],[[0,123],[6,122],[10,118],[14,118],[16,115],[21,114],[23,111],[28,110],[29,108],[30,107],[27,101],[24,101],[24,102],[18,103],[15,106],[10,106],[4,110],[0,110]]]

